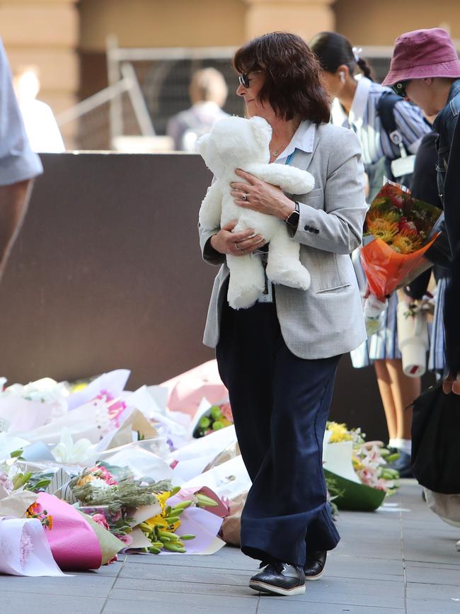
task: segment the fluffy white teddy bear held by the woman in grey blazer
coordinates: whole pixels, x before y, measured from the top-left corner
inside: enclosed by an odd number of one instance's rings
[[[300,246],[289,237],[286,224],[273,215],[238,207],[231,195],[231,181],[241,181],[235,169],[242,169],[289,194],[305,194],[314,187],[314,178],[294,166],[269,164],[272,128],[263,118],[238,117],[217,122],[208,135],[197,141],[197,150],[214,173],[200,208],[200,225],[206,229],[223,227],[238,220],[234,232],[252,228],[268,246],[267,277],[273,283],[308,290],[310,274],[299,260]],[[244,309],[258,300],[265,288],[261,254],[227,254],[230,271],[230,307]]]

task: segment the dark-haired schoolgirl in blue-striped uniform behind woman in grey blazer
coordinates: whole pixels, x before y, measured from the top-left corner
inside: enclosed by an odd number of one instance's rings
[[[353,130],[362,144],[364,169],[371,181],[370,202],[383,184],[383,175],[376,174],[377,185],[372,185],[376,166],[380,161],[387,166],[389,162],[401,157],[401,149],[385,130],[381,116],[384,113],[391,114],[403,147],[410,154],[415,154],[422,137],[430,132],[430,126],[419,108],[403,100],[397,101],[395,96],[391,96],[391,103],[387,98],[391,90],[372,80],[372,71],[366,60],[358,55],[343,35],[322,32],[311,41],[311,49],[323,67],[324,81],[330,96],[335,99],[333,123]],[[359,78],[355,78],[357,69],[362,72]],[[367,281],[357,252],[353,254],[353,262],[360,288],[364,292]],[[403,373],[396,329],[397,307],[398,297],[393,292],[384,313],[384,325],[351,356],[355,368],[374,363],[389,431],[389,447],[397,450],[400,455],[394,467],[401,473],[401,477],[410,477],[412,412],[405,408],[420,394],[420,377],[407,377]]]

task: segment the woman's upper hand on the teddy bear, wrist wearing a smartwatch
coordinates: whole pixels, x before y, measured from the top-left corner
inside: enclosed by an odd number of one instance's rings
[[[236,174],[243,178],[241,181],[230,183],[231,195],[234,197],[235,204],[244,209],[252,209],[267,215],[275,215],[280,220],[286,220],[294,209],[295,205],[284,195],[281,188],[272,186],[271,183],[260,181],[257,177],[236,169]],[[245,198],[244,195],[246,195]]]

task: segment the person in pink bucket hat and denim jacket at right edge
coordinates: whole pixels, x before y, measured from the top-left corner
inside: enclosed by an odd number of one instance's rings
[[[395,41],[384,84],[436,115],[437,189],[452,251],[444,326],[449,373],[444,392],[460,394],[460,61],[446,30],[414,30]]]

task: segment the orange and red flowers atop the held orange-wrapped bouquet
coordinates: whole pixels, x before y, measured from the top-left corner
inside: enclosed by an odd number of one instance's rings
[[[364,235],[382,239],[399,254],[413,254],[427,243],[440,213],[437,207],[413,198],[406,188],[389,181],[372,201]]]

